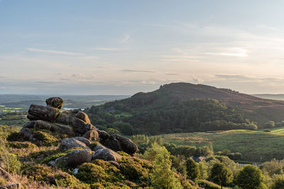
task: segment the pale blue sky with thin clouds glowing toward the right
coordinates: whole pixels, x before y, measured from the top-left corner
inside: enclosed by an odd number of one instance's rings
[[[284,1],[0,0],[0,93],[284,93]]]

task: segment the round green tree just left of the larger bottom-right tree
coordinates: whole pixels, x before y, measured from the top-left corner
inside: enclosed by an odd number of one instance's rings
[[[223,188],[223,185],[228,185],[233,179],[233,173],[227,166],[222,163],[215,163],[213,165],[209,180],[221,185],[221,189]]]

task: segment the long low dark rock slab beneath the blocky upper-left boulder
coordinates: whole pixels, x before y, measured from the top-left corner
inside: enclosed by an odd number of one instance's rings
[[[43,120],[29,121],[25,125],[23,125],[23,129],[26,129],[26,128],[28,129],[38,128],[40,130],[50,130],[53,132],[58,132],[60,134],[68,134],[70,135],[70,137],[75,136],[75,133],[73,132],[72,127],[69,127],[68,125],[61,125],[58,123],[45,122]]]

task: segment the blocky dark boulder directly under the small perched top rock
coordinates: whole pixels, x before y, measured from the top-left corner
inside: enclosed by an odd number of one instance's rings
[[[32,104],[28,109],[28,119],[53,122],[59,113],[60,110],[58,108]]]

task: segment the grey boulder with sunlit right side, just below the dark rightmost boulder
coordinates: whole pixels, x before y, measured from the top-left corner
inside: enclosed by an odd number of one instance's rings
[[[94,148],[94,154],[92,154],[92,159],[102,159],[104,161],[117,161],[118,159],[121,159],[121,155],[99,144],[97,145],[97,147]]]

